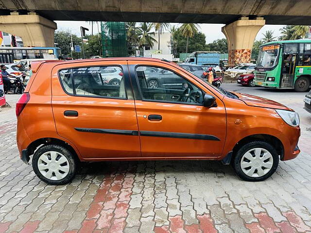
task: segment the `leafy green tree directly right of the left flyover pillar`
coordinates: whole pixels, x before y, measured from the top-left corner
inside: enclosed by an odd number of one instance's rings
[[[54,42],[56,43],[56,47],[60,48],[62,50],[62,54],[65,57],[71,56],[70,54],[70,31],[56,31],[54,34]],[[71,34],[72,36],[72,42],[73,42],[73,46],[75,45],[80,45],[82,46],[82,41],[81,38],[79,38],[77,35],[75,34]],[[79,58],[81,54],[77,53],[77,52],[72,52],[72,56],[74,58]]]

